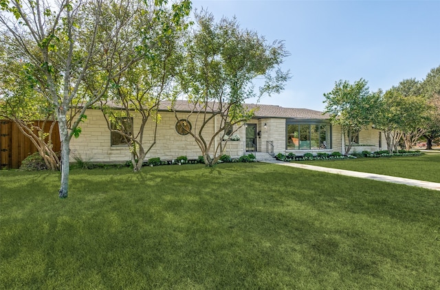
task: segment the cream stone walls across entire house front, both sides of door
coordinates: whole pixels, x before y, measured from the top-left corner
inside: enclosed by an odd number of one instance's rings
[[[89,109],[87,110],[87,120],[81,124],[82,133],[80,137],[72,139],[71,147],[71,161],[75,157],[83,159],[84,161],[92,162],[108,162],[108,163],[124,163],[130,159],[130,152],[128,146],[111,146],[111,133],[107,128],[107,122],[102,116],[101,111]],[[201,155],[201,150],[194,138],[191,135],[179,135],[175,129],[176,118],[173,112],[161,111],[160,122],[157,126],[156,144],[146,155],[146,160],[152,157],[160,157],[162,160],[176,159],[179,156],[186,156],[188,159],[197,159]],[[185,113],[178,113],[178,118],[186,119]],[[189,118],[192,124],[192,129],[198,129],[201,122],[196,122],[195,116]],[[212,122],[203,130],[206,135],[206,141],[209,142],[210,135],[214,133],[214,129],[219,126],[220,120],[214,118]],[[256,124],[256,131],[259,133],[256,137],[256,145],[258,152],[271,151],[272,148],[267,142],[273,144],[273,153],[287,154],[289,152],[296,155],[303,153],[318,153],[327,152],[332,153],[338,151],[344,153],[342,150],[342,132],[340,126],[331,126],[331,142],[332,148],[326,150],[286,150],[286,119],[284,118],[256,118],[249,120],[248,124]],[[133,117],[133,132],[139,131],[139,120],[136,115]],[[153,141],[153,120],[148,120],[144,129],[144,148],[148,148]],[[234,128],[236,129],[236,127]],[[245,154],[245,126],[237,129],[234,135],[239,135],[240,141],[223,142],[220,140],[221,136],[212,144],[211,155],[217,145],[221,144],[223,154],[231,157],[240,157]],[[369,146],[353,146],[351,153],[362,152],[362,150],[375,151],[380,150],[379,131],[375,129],[364,130],[360,132],[360,144]],[[384,137],[382,137],[382,146],[384,144]]]

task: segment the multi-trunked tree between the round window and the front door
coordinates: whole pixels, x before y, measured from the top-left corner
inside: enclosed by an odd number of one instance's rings
[[[217,142],[213,148],[215,141],[223,140],[226,129],[232,127],[234,133],[252,118],[254,112],[245,106],[245,101],[284,89],[289,73],[279,66],[289,53],[282,41],[267,44],[263,36],[241,29],[236,19],[223,18],[215,23],[212,14],[201,11],[195,20],[197,27],[188,37],[186,62],[179,74],[190,112],[185,120],[180,120],[175,112],[175,118],[182,122],[184,133],[194,138],[205,164],[213,166],[224,145]],[[261,84],[258,91],[256,78]],[[190,118],[200,124],[186,126]],[[208,124],[214,123],[217,127],[210,131]]]

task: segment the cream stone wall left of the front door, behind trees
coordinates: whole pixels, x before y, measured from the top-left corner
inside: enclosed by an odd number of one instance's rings
[[[129,148],[127,146],[111,146],[110,131],[107,123],[102,116],[101,111],[89,109],[87,110],[87,120],[81,124],[82,133],[80,137],[72,139],[70,160],[74,161],[74,157],[80,157],[84,161],[93,162],[125,162],[130,159]],[[197,159],[201,155],[201,150],[197,146],[194,138],[190,135],[179,135],[175,130],[177,120],[173,112],[161,112],[162,119],[157,126],[156,144],[146,155],[146,159],[151,157],[160,157],[163,160],[175,159],[181,155],[186,155],[188,159]],[[178,114],[179,118],[186,118],[184,113]],[[192,129],[199,128],[201,122],[196,124],[195,118],[190,118]],[[134,132],[139,130],[139,122],[137,118],[133,118]],[[204,131],[206,136],[214,132],[214,123],[206,127]],[[153,140],[154,122],[148,120],[144,130],[144,146],[148,148]],[[244,129],[237,132],[242,142],[228,142],[225,154],[231,157],[239,157],[243,155]],[[210,138],[209,138],[210,139]],[[208,140],[207,140],[208,141]],[[220,142],[220,140],[218,141]],[[218,144],[217,142],[217,144]],[[214,147],[214,146],[212,146]],[[211,153],[214,148],[212,148]]]

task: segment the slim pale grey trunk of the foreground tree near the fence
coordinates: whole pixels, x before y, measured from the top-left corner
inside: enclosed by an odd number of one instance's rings
[[[58,113],[58,128],[61,139],[61,188],[59,197],[65,199],[69,192],[69,153],[70,153],[70,138],[67,130],[66,116],[63,113]]]

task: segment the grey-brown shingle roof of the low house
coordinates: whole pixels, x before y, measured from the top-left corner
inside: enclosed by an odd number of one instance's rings
[[[214,103],[210,103],[212,107]],[[217,107],[217,104],[215,104]],[[114,107],[119,107],[113,104]],[[328,120],[330,116],[321,111],[314,111],[310,109],[285,108],[272,104],[245,104],[248,109],[256,109],[254,118],[285,118],[285,119],[314,119],[314,120]],[[159,111],[170,111],[171,102],[162,101],[159,105]],[[175,110],[180,112],[190,112],[193,109],[193,104],[188,103],[187,100],[176,100]],[[201,110],[201,106],[197,106],[195,111]]]

